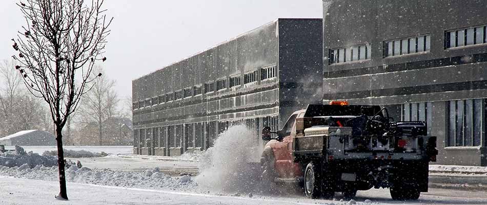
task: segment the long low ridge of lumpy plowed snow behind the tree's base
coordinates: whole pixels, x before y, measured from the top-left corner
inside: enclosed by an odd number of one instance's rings
[[[12,168],[0,166],[0,175],[46,181],[59,179],[57,167],[39,165],[33,168],[29,168],[27,165]],[[70,166],[66,169],[66,180],[93,185],[177,191],[194,191],[197,187],[190,176],[171,177],[161,173],[158,168],[144,172],[132,172],[110,169],[91,170],[86,167]]]

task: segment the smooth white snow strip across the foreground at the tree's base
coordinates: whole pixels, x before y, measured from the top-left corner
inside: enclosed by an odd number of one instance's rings
[[[430,189],[417,201],[393,201],[387,189],[359,191],[354,201],[306,199],[302,196],[224,196],[153,189],[68,183],[69,201],[58,201],[54,195],[56,181],[18,179],[0,176],[0,204],[487,204],[484,192]],[[367,202],[366,202],[367,201]],[[354,203],[355,202],[355,203]]]

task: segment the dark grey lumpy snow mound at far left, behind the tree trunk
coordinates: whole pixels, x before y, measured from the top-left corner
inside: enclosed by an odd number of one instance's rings
[[[41,156],[37,153],[26,153],[20,146],[15,146],[15,151],[0,154],[0,166],[34,168],[37,165],[45,167],[57,166],[57,157]],[[25,167],[24,166],[24,167]]]

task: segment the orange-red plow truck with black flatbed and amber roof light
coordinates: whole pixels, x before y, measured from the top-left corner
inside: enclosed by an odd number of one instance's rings
[[[428,164],[436,137],[424,121],[394,121],[379,106],[308,105],[281,130],[262,129],[261,180],[300,183],[310,198],[335,192],[389,188],[393,199],[418,199],[428,191]]]

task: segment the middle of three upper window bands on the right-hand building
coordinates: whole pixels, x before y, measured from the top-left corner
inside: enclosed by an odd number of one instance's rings
[[[421,35],[384,42],[384,57],[430,51],[431,35]]]

